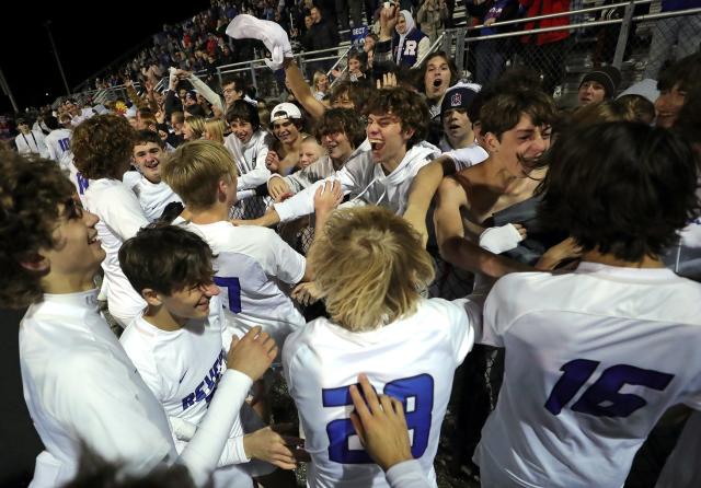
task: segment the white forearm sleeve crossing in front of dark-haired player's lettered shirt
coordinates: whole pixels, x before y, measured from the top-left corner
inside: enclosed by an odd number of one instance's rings
[[[219,464],[231,428],[252,384],[248,375],[237,370],[227,370],[221,376],[207,415],[180,456],[195,485],[205,486]]]

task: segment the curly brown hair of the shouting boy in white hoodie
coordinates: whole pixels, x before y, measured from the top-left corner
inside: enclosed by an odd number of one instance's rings
[[[365,115],[392,114],[399,117],[402,130],[414,129],[406,141],[406,149],[423,141],[428,136],[428,105],[416,92],[402,86],[376,90],[368,100]]]

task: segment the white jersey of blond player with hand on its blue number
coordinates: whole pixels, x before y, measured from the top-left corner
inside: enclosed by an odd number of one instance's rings
[[[312,457],[311,488],[389,486],[348,418],[348,386],[359,373],[403,400],[412,454],[436,486],[433,462],[452,376],[472,348],[481,313],[467,300],[422,299],[416,313],[376,330],[352,333],[322,317],[288,337],[283,365]]]

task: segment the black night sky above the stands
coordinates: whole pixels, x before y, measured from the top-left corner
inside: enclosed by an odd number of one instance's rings
[[[51,34],[72,90],[160,32],[164,23],[180,23],[208,5],[207,0],[5,2],[0,30],[0,69],[21,111],[30,105],[51,103],[57,96],[66,95],[66,90],[44,26],[47,20],[51,21]],[[8,112],[12,112],[12,104],[0,90],[0,114]]]

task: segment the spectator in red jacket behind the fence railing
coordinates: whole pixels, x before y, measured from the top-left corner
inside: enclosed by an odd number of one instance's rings
[[[539,16],[570,11],[570,0],[518,0],[527,9],[526,16]],[[567,15],[528,22],[524,30],[556,27],[570,24]],[[568,53],[570,31],[553,31],[521,36],[526,63],[536,68],[543,77],[543,89],[552,95],[562,84],[565,74],[565,56]]]

